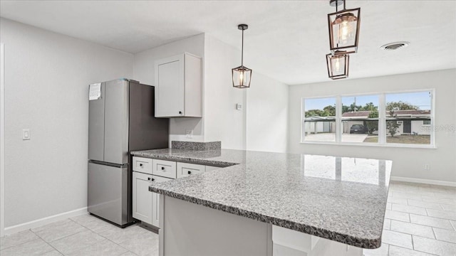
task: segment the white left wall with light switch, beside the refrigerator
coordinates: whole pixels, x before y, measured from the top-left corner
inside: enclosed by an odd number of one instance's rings
[[[130,78],[133,55],[4,18],[0,37],[8,228],[87,206],[88,85]]]

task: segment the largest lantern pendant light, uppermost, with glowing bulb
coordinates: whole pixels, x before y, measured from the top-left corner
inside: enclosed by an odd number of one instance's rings
[[[361,8],[345,9],[345,0],[330,0],[331,6],[336,6],[336,12],[328,14],[329,48],[333,55],[356,53],[358,51],[358,38]],[[337,6],[343,4],[343,10],[338,11]]]

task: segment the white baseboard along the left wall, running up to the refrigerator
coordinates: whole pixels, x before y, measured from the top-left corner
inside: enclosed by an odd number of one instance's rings
[[[48,216],[46,218],[32,220],[32,221],[29,221],[28,223],[21,223],[18,225],[14,225],[14,226],[5,228],[5,235],[12,235],[14,233],[18,233],[18,232],[21,232],[24,230],[29,230],[31,228],[38,228],[38,227],[41,227],[41,226],[49,224],[49,223],[53,223],[53,222],[56,222],[59,220],[66,220],[67,218],[72,218],[72,217],[84,215],[87,213],[88,213],[87,207],[83,207],[83,208],[79,208],[76,210],[70,210],[66,213],[59,213],[56,215]]]

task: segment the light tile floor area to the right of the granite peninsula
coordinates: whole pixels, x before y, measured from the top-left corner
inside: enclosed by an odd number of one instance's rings
[[[456,256],[456,188],[392,181],[382,242],[364,255]]]

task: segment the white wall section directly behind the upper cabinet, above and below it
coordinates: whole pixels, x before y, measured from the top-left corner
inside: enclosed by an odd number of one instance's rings
[[[201,57],[204,70],[204,34],[199,34],[136,53],[133,65],[133,79],[146,85],[155,85],[155,60],[185,52]],[[170,145],[172,140],[204,142],[203,122],[203,118],[171,118]],[[185,130],[187,129],[193,130],[193,139],[187,139],[185,137]]]

